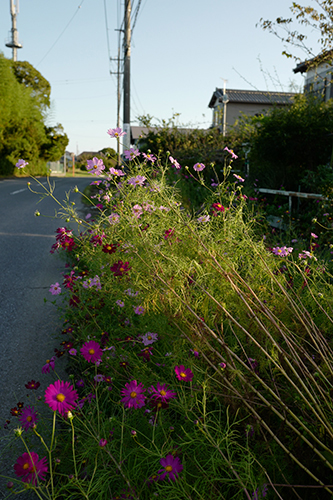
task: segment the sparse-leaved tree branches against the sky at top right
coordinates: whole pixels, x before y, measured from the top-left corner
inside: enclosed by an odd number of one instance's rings
[[[331,63],[333,59],[331,52],[333,49],[333,0],[312,0],[312,2],[316,4],[316,8],[293,2],[290,7],[292,17],[278,17],[275,21],[261,18],[258,23],[261,28],[280,38],[286,46],[294,46],[296,49],[304,51],[305,58],[311,59],[309,67],[317,66],[326,61]],[[302,26],[303,32],[293,29],[295,22]],[[285,35],[281,35],[281,31],[284,31]],[[317,33],[317,43],[322,49],[319,56],[307,45],[307,31],[311,34]],[[284,50],[282,54],[300,61],[300,57],[291,53],[289,49]]]

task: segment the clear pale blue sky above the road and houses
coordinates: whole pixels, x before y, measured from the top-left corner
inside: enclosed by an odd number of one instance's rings
[[[132,0],[135,13],[139,0]],[[20,0],[17,28],[29,61],[52,87],[49,123],[61,123],[68,150],[115,147],[106,131],[116,126],[117,57],[124,0]],[[216,87],[290,90],[303,77],[281,53],[283,44],[256,27],[262,17],[289,17],[291,0],[142,0],[132,37],[131,123],[138,115],[200,128],[211,123]],[[10,2],[0,3],[0,50],[11,28]],[[106,12],[106,15],[105,15]],[[311,39],[313,36],[313,39]],[[315,34],[309,43],[315,45]],[[109,43],[108,43],[109,42]],[[299,53],[302,58],[302,53]],[[303,57],[305,55],[303,54]],[[122,119],[122,112],[121,112]]]

